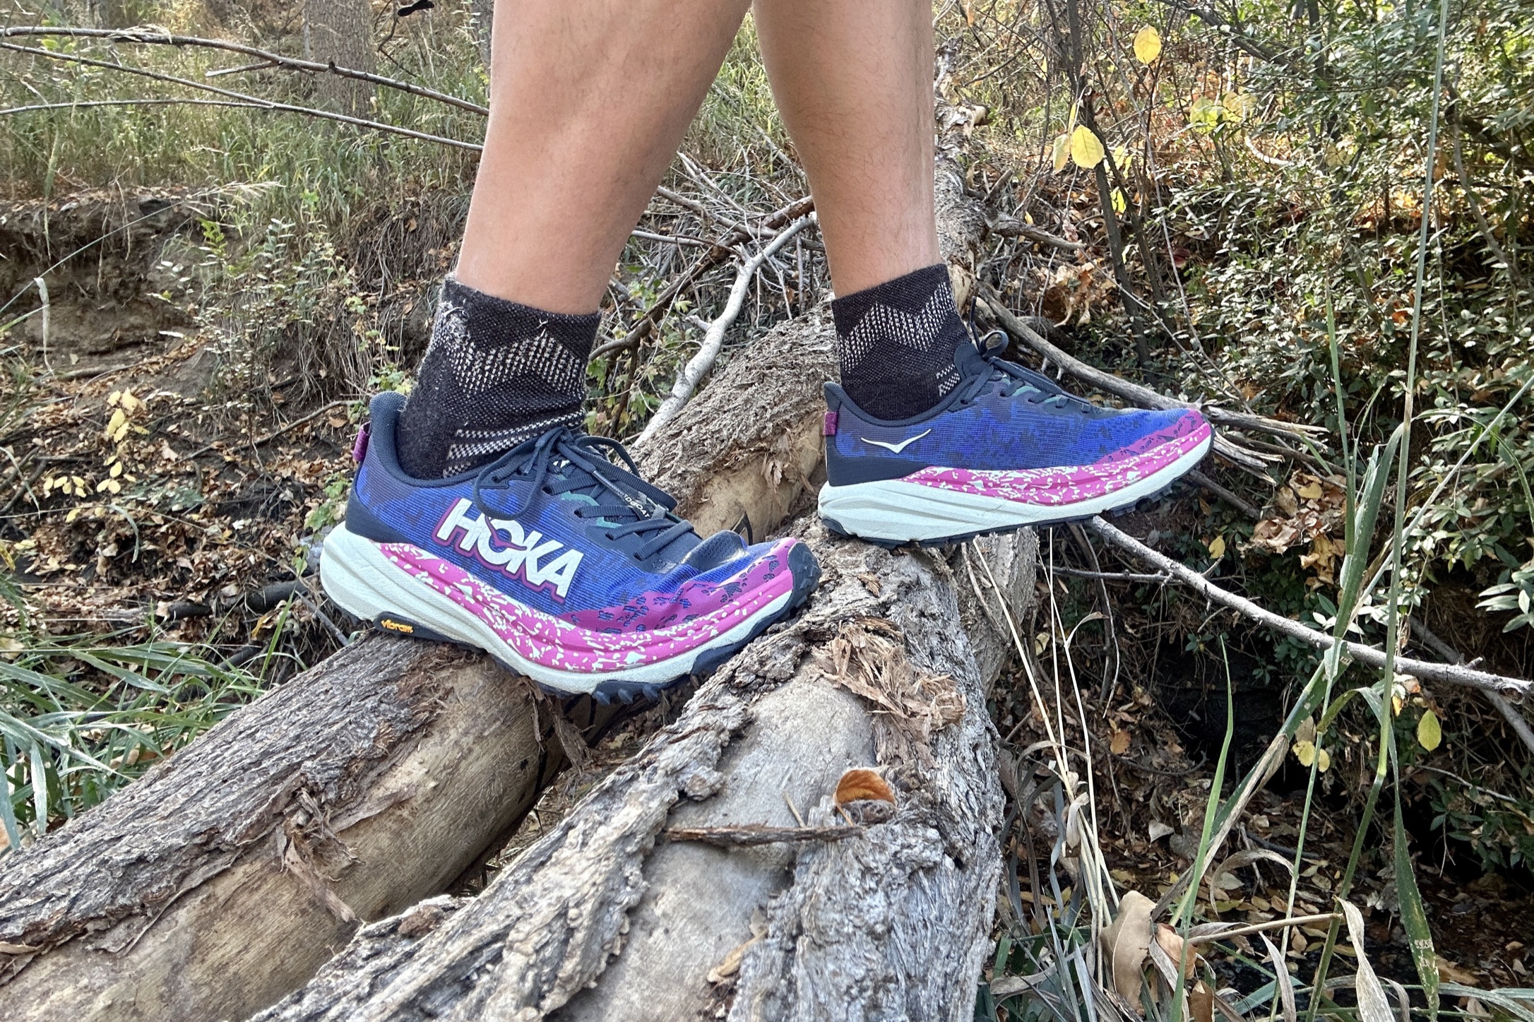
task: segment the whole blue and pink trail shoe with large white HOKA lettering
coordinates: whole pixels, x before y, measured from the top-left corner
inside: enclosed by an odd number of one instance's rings
[[[819,580],[799,540],[701,539],[617,440],[557,428],[483,470],[413,479],[394,456],[402,405],[373,399],[319,565],[325,592],[382,631],[629,700],[723,663]]]

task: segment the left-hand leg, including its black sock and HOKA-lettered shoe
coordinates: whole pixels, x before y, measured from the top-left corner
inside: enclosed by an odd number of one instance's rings
[[[341,606],[606,698],[709,669],[813,589],[808,546],[701,539],[578,430],[601,292],[744,11],[502,0],[457,279],[325,539]]]

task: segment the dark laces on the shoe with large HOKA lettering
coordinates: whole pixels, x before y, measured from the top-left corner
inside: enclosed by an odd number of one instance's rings
[[[609,460],[612,453],[627,468]],[[594,503],[577,506],[575,517],[601,519],[611,526],[606,537],[614,542],[629,536],[643,539],[630,552],[638,560],[647,560],[672,540],[692,532],[692,525],[670,514],[676,502],[640,479],[638,473],[638,465],[617,440],[557,427],[486,465],[474,479],[474,505],[482,514],[514,519],[538,494],[557,497],[578,493]],[[522,506],[497,506],[488,499],[486,491],[506,490],[514,479],[531,480],[532,496]]]

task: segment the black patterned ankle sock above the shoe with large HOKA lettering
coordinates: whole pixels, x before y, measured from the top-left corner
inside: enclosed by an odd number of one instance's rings
[[[399,463],[416,479],[483,465],[557,425],[581,422],[598,313],[565,316],[453,278],[399,420]]]

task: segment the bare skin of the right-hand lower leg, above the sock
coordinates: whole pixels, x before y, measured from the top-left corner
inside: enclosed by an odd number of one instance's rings
[[[940,261],[928,0],[756,0],[838,295]]]

